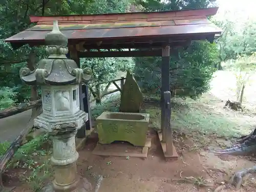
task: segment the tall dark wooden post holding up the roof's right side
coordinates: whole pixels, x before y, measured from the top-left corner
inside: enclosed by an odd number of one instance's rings
[[[164,103],[164,92],[170,90],[169,74],[170,74],[170,48],[165,46],[162,48],[162,87],[161,87],[161,130],[162,130],[162,141],[166,141],[166,130],[165,130],[165,103]]]

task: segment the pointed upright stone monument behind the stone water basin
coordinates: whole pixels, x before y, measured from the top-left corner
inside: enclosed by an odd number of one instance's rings
[[[139,113],[143,102],[143,95],[140,87],[130,70],[127,71],[126,80],[123,85],[120,98],[120,112]]]

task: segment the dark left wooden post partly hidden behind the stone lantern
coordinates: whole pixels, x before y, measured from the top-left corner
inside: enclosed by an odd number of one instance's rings
[[[69,46],[69,55],[67,57],[70,57],[74,61],[76,61],[76,64],[78,67],[80,67],[80,58],[78,57],[77,50],[75,46]],[[79,84],[79,100],[80,100],[80,110],[88,113],[89,122],[86,122],[86,124],[81,127],[81,129],[77,130],[77,138],[84,138],[86,137],[86,130],[91,130],[91,109],[89,104],[89,97],[88,92],[83,92],[82,83]]]

